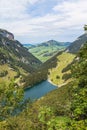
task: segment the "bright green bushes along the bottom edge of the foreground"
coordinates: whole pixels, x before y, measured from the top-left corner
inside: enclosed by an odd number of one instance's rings
[[[0,123],[0,130],[66,130],[68,117],[61,117],[47,106],[29,106],[18,116]]]

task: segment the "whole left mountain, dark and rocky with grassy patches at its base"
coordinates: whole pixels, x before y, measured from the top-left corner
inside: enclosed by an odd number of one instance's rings
[[[36,71],[40,64],[41,61],[34,57],[19,41],[15,40],[12,33],[0,29],[1,77],[7,76],[7,79],[20,77],[20,75]]]

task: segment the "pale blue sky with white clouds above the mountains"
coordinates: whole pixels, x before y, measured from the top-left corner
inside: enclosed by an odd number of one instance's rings
[[[0,0],[0,28],[21,43],[74,41],[87,24],[87,0]]]

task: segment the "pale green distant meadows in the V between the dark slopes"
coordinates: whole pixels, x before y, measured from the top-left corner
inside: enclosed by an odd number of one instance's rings
[[[42,62],[51,58],[59,50],[65,49],[64,46],[39,46],[29,49],[29,51]],[[48,56],[45,56],[47,54]]]

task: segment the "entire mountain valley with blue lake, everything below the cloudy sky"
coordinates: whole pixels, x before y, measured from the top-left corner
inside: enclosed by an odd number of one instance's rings
[[[30,45],[38,59],[0,31],[0,130],[86,130],[87,34]]]

